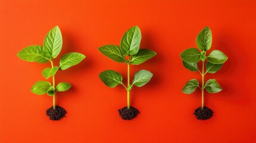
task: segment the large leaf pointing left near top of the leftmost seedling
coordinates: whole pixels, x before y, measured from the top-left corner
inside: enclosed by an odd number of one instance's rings
[[[43,52],[43,47],[39,45],[27,46],[18,52],[17,56],[24,61],[35,61],[38,63],[46,63],[49,59]]]

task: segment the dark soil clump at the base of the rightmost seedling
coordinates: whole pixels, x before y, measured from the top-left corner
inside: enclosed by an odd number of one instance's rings
[[[195,114],[196,118],[199,120],[206,120],[210,119],[213,116],[213,113],[214,112],[210,108],[204,106],[203,109],[202,107],[196,108],[195,113],[193,114]]]

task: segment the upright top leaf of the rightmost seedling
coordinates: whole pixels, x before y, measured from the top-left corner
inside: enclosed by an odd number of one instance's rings
[[[208,26],[206,26],[199,34],[196,36],[196,45],[202,51],[207,51],[212,46],[212,32]]]

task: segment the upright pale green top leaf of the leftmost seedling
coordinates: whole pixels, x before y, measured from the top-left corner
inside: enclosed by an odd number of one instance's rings
[[[62,47],[62,35],[58,26],[55,26],[44,38],[44,52],[51,58],[60,54]]]

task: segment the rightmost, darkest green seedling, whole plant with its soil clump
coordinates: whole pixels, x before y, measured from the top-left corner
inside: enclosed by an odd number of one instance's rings
[[[216,73],[221,69],[223,63],[227,61],[227,56],[219,51],[213,50],[208,56],[206,56],[206,51],[211,48],[212,45],[212,33],[209,27],[205,27],[196,37],[197,48],[189,48],[181,52],[180,57],[183,60],[183,66],[190,71],[198,71],[202,75],[202,86],[199,86],[199,82],[196,79],[191,79],[186,83],[182,91],[185,94],[192,94],[196,88],[200,88],[202,91],[202,106],[195,110],[195,116],[197,119],[206,120],[212,117],[213,111],[204,106],[204,90],[210,94],[220,92],[222,90],[221,86],[215,79],[209,79],[206,83],[204,82],[206,73]],[[202,70],[198,69],[198,63],[202,61]],[[206,69],[205,69],[206,62]]]

